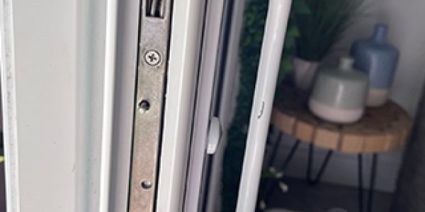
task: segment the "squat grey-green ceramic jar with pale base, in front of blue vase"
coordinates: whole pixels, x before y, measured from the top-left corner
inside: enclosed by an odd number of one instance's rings
[[[319,69],[309,107],[329,122],[349,124],[363,115],[368,95],[368,76],[353,69],[353,59],[341,58],[338,68]]]

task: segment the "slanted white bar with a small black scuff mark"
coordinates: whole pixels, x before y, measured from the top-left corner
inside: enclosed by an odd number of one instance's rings
[[[270,123],[280,56],[285,40],[291,3],[292,0],[271,0],[268,3],[259,71],[252,102],[251,118],[249,119],[241,182],[239,184],[237,212],[255,210],[261,167],[266,148],[268,124]]]

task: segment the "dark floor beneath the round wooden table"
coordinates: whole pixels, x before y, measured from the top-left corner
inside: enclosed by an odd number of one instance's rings
[[[291,211],[325,212],[330,208],[344,208],[349,212],[358,211],[358,192],[356,188],[334,184],[317,184],[311,187],[302,179],[285,179],[288,192],[273,189],[268,208],[285,208]],[[368,192],[363,194],[366,200]],[[373,196],[373,211],[390,211],[392,194],[375,192]],[[365,204],[364,204],[365,205]]]

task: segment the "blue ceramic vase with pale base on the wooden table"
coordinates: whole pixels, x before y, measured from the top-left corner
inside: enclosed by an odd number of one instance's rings
[[[381,106],[387,102],[392,86],[399,51],[387,42],[387,26],[375,25],[375,32],[366,39],[356,40],[351,46],[354,68],[369,76],[366,105]]]

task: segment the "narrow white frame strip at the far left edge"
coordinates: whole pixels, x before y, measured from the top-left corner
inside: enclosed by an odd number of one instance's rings
[[[18,172],[18,123],[16,117],[15,47],[12,0],[1,1],[1,98],[4,121],[4,154],[7,211],[20,211]]]

